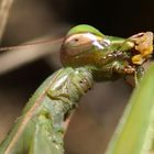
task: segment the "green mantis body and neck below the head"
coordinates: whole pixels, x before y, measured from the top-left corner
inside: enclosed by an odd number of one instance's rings
[[[0,147],[0,154],[62,154],[64,119],[92,86],[86,68],[63,68],[36,90]]]

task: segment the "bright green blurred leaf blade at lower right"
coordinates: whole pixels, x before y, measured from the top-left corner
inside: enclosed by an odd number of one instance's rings
[[[154,152],[154,65],[134,89],[106,154]]]

